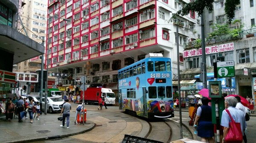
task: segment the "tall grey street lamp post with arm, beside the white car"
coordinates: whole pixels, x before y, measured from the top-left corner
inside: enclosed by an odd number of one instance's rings
[[[65,18],[60,18],[60,17],[54,17],[54,16],[49,16],[48,17],[48,34],[47,34],[47,78],[46,78],[46,89],[45,89],[45,97],[44,97],[44,114],[47,115],[47,93],[48,93],[48,65],[49,65],[49,35],[50,35],[50,28],[49,28],[49,25],[50,25],[50,18],[58,18],[58,19],[62,19],[62,20],[65,20],[65,21],[70,21],[68,19],[65,19]],[[53,20],[54,21],[54,20]]]

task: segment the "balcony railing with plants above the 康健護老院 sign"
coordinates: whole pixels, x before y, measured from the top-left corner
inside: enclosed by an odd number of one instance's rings
[[[248,34],[251,34],[251,35],[253,34],[253,36],[254,36],[256,34],[256,28],[241,31],[238,33],[238,35],[236,37],[233,37],[233,35],[230,35],[230,34],[225,34],[225,35],[221,35],[221,36],[206,38],[205,45],[212,45],[212,44],[216,44],[216,43],[246,38],[246,37],[248,37],[247,36]],[[201,39],[196,39],[194,41],[184,43],[183,47],[184,47],[184,49],[199,48],[199,47],[201,47]]]

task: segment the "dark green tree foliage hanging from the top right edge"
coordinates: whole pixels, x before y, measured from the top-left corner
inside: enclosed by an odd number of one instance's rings
[[[214,0],[194,0],[190,3],[187,3],[181,10],[177,11],[176,14],[173,14],[170,21],[176,19],[177,16],[187,15],[190,13],[190,11],[195,11],[198,13],[198,16],[201,16],[201,14],[204,11],[204,8],[206,8],[209,11],[213,10],[213,2]],[[227,20],[229,22],[231,22],[233,17],[235,16],[236,6],[239,4],[240,0],[226,0],[224,10],[225,13],[227,14]]]

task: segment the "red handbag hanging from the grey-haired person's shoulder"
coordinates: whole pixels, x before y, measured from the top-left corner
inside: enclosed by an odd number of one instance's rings
[[[243,134],[241,132],[240,123],[236,123],[228,109],[225,109],[227,114],[231,118],[231,122],[229,123],[229,130],[225,137],[225,143],[241,143],[243,141]]]

